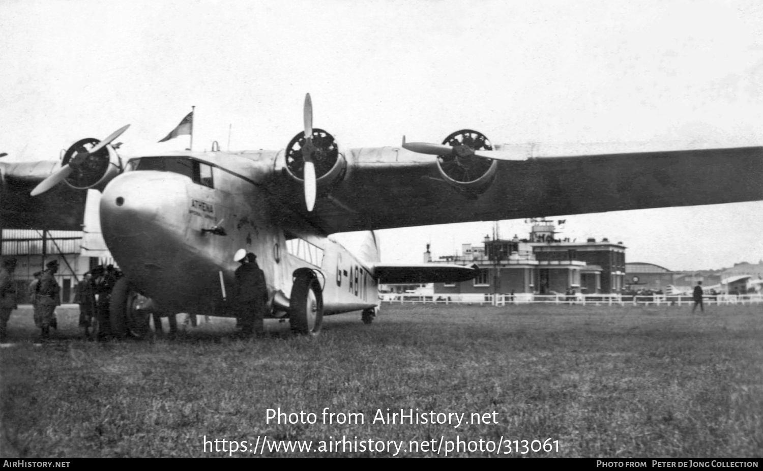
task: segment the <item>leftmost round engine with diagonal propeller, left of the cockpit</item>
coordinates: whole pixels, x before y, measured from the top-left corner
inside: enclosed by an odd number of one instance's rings
[[[99,142],[93,137],[85,137],[63,154],[61,165],[68,164],[72,169],[65,180],[67,185],[75,189],[102,191],[111,179],[121,173],[121,159],[114,147],[107,145],[96,153],[89,153]]]

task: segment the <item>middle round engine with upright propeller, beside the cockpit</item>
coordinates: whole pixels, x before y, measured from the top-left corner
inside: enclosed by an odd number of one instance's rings
[[[296,182],[304,182],[304,132],[297,134],[288,143],[285,150],[286,172]],[[339,182],[346,173],[347,161],[340,145],[334,137],[323,129],[313,128],[313,161],[315,164],[315,177],[317,180],[317,192],[326,192],[331,186]]]

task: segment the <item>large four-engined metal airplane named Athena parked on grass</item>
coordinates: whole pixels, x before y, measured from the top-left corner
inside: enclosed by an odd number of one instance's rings
[[[128,125],[76,141],[60,163],[0,162],[2,227],[79,230],[85,190],[97,189],[105,243],[126,275],[112,293],[114,333],[145,335],[146,305],[234,317],[233,253],[243,247],[266,275],[266,318],[314,335],[325,315],[361,311],[371,323],[381,283],[477,274],[381,263],[373,231],[763,199],[763,147],[565,153],[462,129],[442,144],[347,149],[313,127],[309,94],[303,116],[282,150],[127,158],[111,142]],[[358,254],[331,235],[349,231],[367,231]]]

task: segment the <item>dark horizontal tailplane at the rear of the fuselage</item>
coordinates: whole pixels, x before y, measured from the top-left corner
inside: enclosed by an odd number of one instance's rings
[[[478,267],[439,263],[401,265],[375,263],[373,274],[380,283],[442,283],[473,279]]]

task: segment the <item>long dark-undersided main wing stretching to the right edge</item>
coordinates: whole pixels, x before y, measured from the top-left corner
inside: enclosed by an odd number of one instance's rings
[[[483,159],[472,169],[397,147],[345,157],[341,178],[323,189],[318,179],[314,211],[298,186],[277,198],[327,234],[763,199],[763,147]]]

